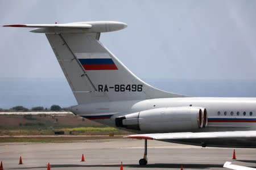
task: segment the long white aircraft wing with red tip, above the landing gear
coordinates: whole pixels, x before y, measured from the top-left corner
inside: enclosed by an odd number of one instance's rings
[[[213,139],[213,138],[256,138],[256,130],[250,131],[213,131],[213,132],[185,132],[185,133],[151,133],[127,135],[126,138],[175,140],[175,139]]]

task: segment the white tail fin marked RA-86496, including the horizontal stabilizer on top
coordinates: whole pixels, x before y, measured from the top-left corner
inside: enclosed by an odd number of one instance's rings
[[[121,22],[5,25],[46,33],[78,104],[97,101],[184,97],[158,90],[135,76],[99,41],[102,32],[126,28]]]

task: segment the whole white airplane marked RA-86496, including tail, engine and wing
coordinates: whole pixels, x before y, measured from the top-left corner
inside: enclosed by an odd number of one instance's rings
[[[191,97],[159,90],[134,75],[100,42],[101,33],[122,22],[13,24],[45,33],[81,117],[144,139],[140,165],[147,164],[147,140],[202,147],[256,148],[256,98]]]

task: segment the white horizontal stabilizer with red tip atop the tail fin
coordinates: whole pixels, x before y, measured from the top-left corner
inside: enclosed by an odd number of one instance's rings
[[[3,27],[36,28],[31,32],[37,33],[82,33],[82,32],[111,32],[126,28],[127,24],[112,21],[78,22],[66,24],[11,24]]]

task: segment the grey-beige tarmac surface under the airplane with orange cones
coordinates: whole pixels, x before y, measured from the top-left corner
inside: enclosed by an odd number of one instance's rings
[[[3,169],[226,169],[226,161],[256,167],[256,149],[198,147],[148,141],[148,164],[139,165],[144,141],[101,139],[67,143],[0,143]],[[81,162],[84,154],[85,162]],[[19,156],[23,164],[19,165]]]

